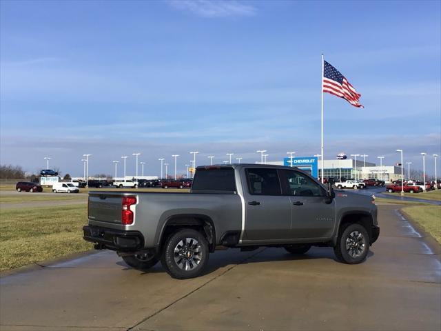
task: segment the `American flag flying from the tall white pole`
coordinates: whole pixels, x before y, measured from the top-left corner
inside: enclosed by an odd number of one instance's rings
[[[323,68],[323,92],[343,98],[351,103],[352,106],[364,108],[359,102],[361,94],[351,86],[340,71],[327,63],[327,61],[325,61],[325,67]]]

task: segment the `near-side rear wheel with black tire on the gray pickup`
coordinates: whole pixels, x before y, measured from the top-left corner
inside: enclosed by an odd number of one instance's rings
[[[179,251],[175,253],[176,249]],[[196,230],[183,229],[172,234],[165,242],[161,263],[173,278],[189,279],[198,277],[203,272],[208,255],[208,242],[203,234]]]

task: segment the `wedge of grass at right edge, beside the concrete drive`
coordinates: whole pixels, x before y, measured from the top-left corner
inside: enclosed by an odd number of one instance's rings
[[[407,206],[402,208],[402,212],[441,243],[441,205]]]

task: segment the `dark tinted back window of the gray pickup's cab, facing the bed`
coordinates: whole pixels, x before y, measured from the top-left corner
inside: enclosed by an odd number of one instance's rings
[[[198,168],[194,174],[192,192],[236,194],[236,179],[233,168]]]

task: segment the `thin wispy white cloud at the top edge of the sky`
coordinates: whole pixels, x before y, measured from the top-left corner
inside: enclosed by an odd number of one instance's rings
[[[170,6],[178,10],[192,12],[200,17],[218,18],[233,16],[254,16],[256,8],[238,1],[170,0]]]

